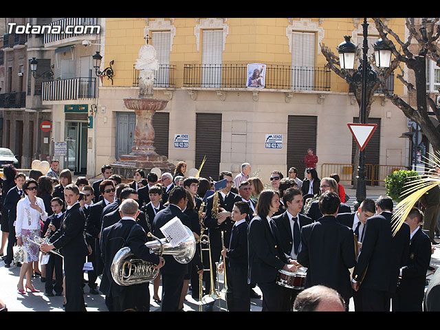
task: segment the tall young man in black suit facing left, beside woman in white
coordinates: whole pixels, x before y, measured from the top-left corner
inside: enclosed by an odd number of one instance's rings
[[[78,202],[80,191],[74,184],[64,188],[67,210],[61,228],[53,234],[49,243],[43,243],[40,250],[61,251],[64,256],[66,311],[86,311],[83,296],[83,267],[89,254],[85,241],[85,215]]]

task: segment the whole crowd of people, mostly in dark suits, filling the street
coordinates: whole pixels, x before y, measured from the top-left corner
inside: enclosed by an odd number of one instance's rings
[[[306,157],[307,164],[318,160],[313,151]],[[265,187],[248,163],[214,181],[187,176],[179,162],[174,173],[138,169],[124,182],[104,165],[90,184],[86,177],[73,182],[58,164],[28,177],[3,168],[0,253],[11,267],[20,265],[17,247],[25,252],[18,294],[38,292],[32,278],[40,276],[45,296],[64,296],[65,311],[87,311],[86,284],[105,296],[109,311],[149,311],[148,281],[125,286],[113,278],[113,259],[128,247],[157,271],[152,299],[161,311],[183,311],[189,292],[199,301],[219,294],[220,273],[228,311],[250,311],[251,298],[262,298],[262,311],[349,311],[350,299],[355,311],[421,311],[433,250],[421,230],[423,212],[413,208],[393,235],[393,200],[365,199],[351,212],[337,174],[319,178],[311,166],[301,180],[294,167],[287,177],[274,170]],[[160,228],[175,217],[197,242],[190,263],[146,245],[163,239]],[[85,270],[86,262],[93,267]],[[203,309],[212,311],[214,302]]]

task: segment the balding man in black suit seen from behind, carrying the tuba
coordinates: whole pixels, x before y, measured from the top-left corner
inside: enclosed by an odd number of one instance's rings
[[[109,287],[106,289],[105,294],[112,297],[113,311],[149,311],[148,282],[128,286],[118,285],[111,276],[111,264],[115,254],[123,247],[130,248],[135,258],[153,263],[155,269],[162,267],[163,259],[145,245],[147,242],[146,233],[136,221],[140,212],[137,201],[124,199],[118,212],[121,219],[117,223],[104,228],[100,239],[100,250],[105,265],[104,274],[105,278],[109,279]]]

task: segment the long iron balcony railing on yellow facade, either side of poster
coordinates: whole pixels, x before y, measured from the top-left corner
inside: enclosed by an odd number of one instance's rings
[[[266,89],[330,90],[330,69],[267,65]],[[247,64],[185,64],[184,87],[246,88]]]

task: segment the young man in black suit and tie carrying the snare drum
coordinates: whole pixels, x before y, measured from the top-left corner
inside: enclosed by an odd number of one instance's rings
[[[292,259],[297,259],[301,244],[301,228],[304,225],[309,225],[312,221],[304,214],[300,214],[303,209],[303,192],[301,190],[298,188],[288,188],[284,192],[283,199],[287,210],[272,219],[280,233],[281,246],[284,253]],[[281,287],[283,299],[281,310],[292,311],[295,298],[299,292],[296,289]]]

